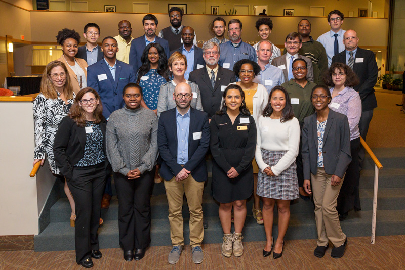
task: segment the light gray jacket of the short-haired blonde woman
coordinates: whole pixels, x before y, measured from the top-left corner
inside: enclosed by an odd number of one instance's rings
[[[201,94],[198,85],[192,81],[187,81],[187,83],[191,86],[191,92],[193,93],[191,107],[202,111],[203,104],[201,103]],[[157,99],[157,117],[160,117],[160,114],[164,111],[176,108],[176,102],[173,99],[175,87],[172,80],[160,86],[159,98]]]

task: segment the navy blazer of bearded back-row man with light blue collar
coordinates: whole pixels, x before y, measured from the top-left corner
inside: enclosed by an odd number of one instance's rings
[[[156,36],[156,43],[159,43],[165,50],[166,57],[169,59],[169,42],[166,39]],[[134,67],[135,73],[142,66],[141,56],[146,48],[145,35],[135,38],[131,41],[129,64]]]

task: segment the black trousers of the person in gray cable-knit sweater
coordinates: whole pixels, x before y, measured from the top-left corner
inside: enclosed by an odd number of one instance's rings
[[[150,194],[153,187],[155,168],[145,171],[141,177],[128,180],[120,173],[114,173],[118,196],[119,245],[124,250],[147,248],[150,244]]]

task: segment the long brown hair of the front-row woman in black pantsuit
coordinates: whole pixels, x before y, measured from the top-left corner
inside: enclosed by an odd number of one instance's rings
[[[82,100],[83,96],[86,93],[93,93],[93,95],[96,97],[96,99],[98,99],[98,102],[99,102],[99,104],[97,105],[96,109],[93,112],[93,116],[96,119],[94,121],[94,123],[98,124],[104,119],[103,105],[101,104],[100,95],[97,93],[97,91],[95,91],[95,89],[93,89],[91,87],[86,87],[86,88],[83,88],[82,90],[80,90],[79,93],[77,93],[76,98],[74,99],[74,103],[73,103],[72,107],[70,108],[70,112],[68,114],[68,116],[73,121],[75,121],[77,126],[79,126],[79,127],[86,126],[85,112],[82,109],[82,107],[79,105],[80,100]]]

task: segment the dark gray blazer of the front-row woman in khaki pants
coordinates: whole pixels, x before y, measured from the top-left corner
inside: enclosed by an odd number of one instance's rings
[[[343,178],[351,162],[350,128],[346,115],[329,110],[322,150],[325,172]],[[316,113],[314,113],[304,119],[302,128],[304,179],[311,179],[310,173],[316,175],[317,160],[318,132],[316,131]]]

